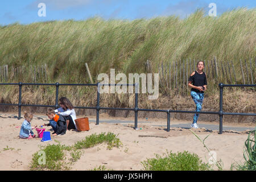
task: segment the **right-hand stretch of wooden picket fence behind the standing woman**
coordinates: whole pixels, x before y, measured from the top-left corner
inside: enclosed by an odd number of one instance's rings
[[[188,88],[188,78],[196,70],[199,60],[184,59],[173,60],[158,64],[159,87],[167,89]],[[234,65],[234,61],[222,61],[213,57],[212,60],[203,60],[204,72],[207,74],[208,84],[254,84],[256,59],[240,60],[240,65]],[[147,70],[150,72],[150,60],[146,61]],[[239,68],[239,69],[238,69]],[[214,85],[216,86],[216,85]]]

